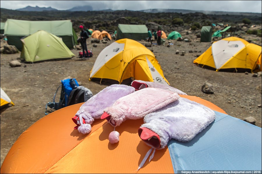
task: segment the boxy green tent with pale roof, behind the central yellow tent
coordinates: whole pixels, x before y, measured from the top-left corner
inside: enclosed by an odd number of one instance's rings
[[[127,38],[138,41],[148,37],[146,25],[118,24],[116,32],[116,40]]]

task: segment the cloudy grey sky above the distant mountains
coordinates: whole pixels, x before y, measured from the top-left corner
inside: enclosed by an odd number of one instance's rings
[[[146,10],[146,9],[184,9],[224,12],[261,13],[259,1],[1,1],[1,8],[16,10],[26,6],[52,7],[68,10],[76,6],[92,6],[93,10]]]

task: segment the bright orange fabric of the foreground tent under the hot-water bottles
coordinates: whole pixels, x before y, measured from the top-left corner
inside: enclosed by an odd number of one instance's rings
[[[225,113],[199,97],[180,96]],[[167,147],[157,150],[152,161],[137,171],[150,149],[138,136],[143,119],[118,126],[117,144],[109,143],[114,128],[106,120],[95,120],[87,135],[73,129],[71,118],[82,104],[56,110],[24,131],[6,155],[1,173],[174,173]]]

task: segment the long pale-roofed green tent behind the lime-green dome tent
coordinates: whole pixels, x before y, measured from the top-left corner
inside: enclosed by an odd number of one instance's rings
[[[77,45],[77,35],[73,29],[71,20],[58,21],[26,21],[17,19],[7,19],[4,34],[9,45],[14,45],[18,50],[22,50],[21,38],[31,35],[38,30],[44,30],[59,36],[65,45],[72,49]]]

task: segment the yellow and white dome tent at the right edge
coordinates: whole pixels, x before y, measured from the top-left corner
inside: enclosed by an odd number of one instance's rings
[[[260,66],[261,46],[238,37],[227,37],[213,44],[193,61],[199,66],[218,70],[250,70]]]

